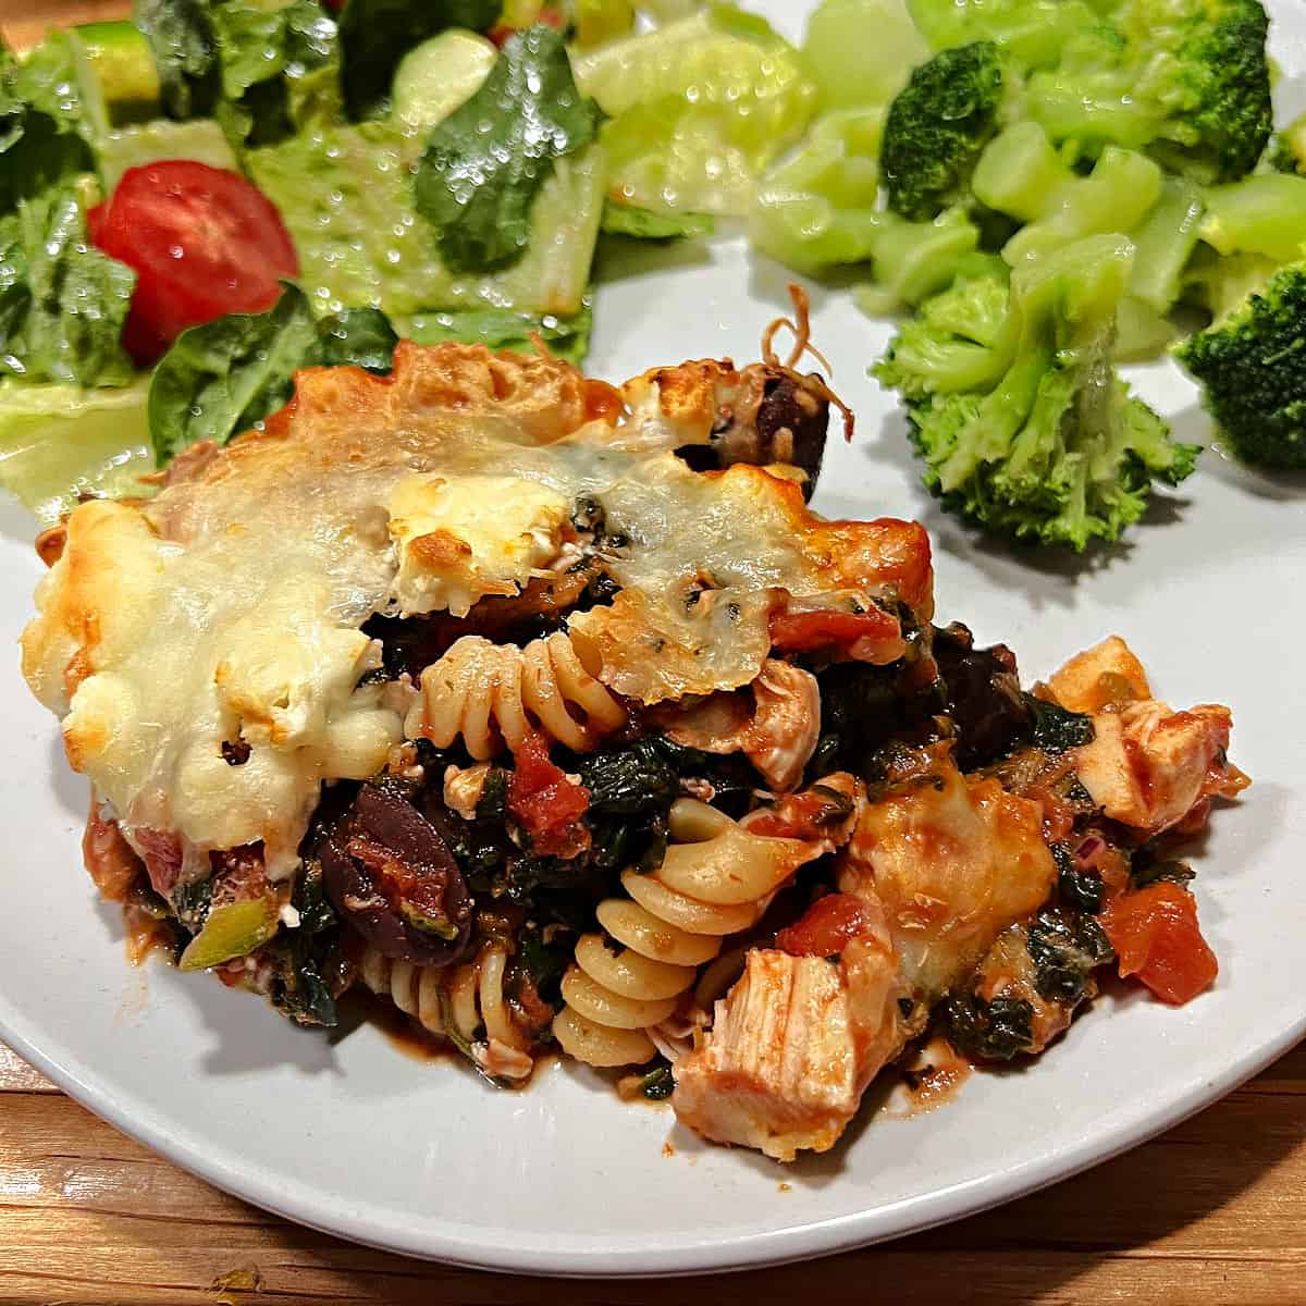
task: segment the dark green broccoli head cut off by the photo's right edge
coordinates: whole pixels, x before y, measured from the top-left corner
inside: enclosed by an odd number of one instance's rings
[[[1276,272],[1262,294],[1190,336],[1175,357],[1243,458],[1306,468],[1306,264]]]

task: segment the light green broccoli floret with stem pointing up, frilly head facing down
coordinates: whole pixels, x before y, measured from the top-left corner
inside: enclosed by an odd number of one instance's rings
[[[1143,515],[1200,452],[1111,367],[1134,246],[1089,236],[925,304],[875,370],[908,401],[925,483],[987,530],[1084,550]]]

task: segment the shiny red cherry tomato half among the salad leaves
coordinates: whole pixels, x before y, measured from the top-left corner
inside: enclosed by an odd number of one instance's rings
[[[187,326],[270,308],[281,278],[299,274],[272,201],[239,172],[189,159],[128,168],[88,229],[136,270],[123,343],[142,364]]]

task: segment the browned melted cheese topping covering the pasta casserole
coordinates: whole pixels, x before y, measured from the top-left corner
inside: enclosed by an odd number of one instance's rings
[[[291,874],[321,784],[401,737],[393,690],[358,683],[379,657],[363,622],[508,592],[580,499],[623,590],[571,627],[645,703],[754,680],[788,596],[927,606],[921,528],[823,522],[759,468],[693,473],[614,394],[550,358],[405,343],[389,377],[299,374],[266,431],[179,460],[151,502],[78,507],[24,673],[127,837],[174,832],[188,859],[261,840]]]

